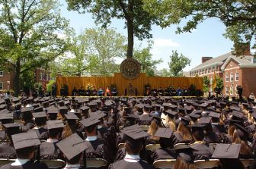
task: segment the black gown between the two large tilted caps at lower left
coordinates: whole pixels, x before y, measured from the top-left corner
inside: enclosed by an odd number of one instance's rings
[[[62,154],[56,146],[57,142],[42,142],[40,144],[40,159],[62,159]]]

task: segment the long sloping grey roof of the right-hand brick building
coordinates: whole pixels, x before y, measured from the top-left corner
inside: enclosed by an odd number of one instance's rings
[[[223,64],[224,61],[226,61],[226,59],[229,58],[229,56],[232,56],[232,53],[231,53],[231,52],[226,53],[226,54],[224,54],[224,55],[220,55],[220,56],[218,56],[218,57],[216,57],[216,58],[212,58],[212,59],[210,59],[210,60],[208,60],[208,61],[205,61],[205,62],[203,62],[202,64],[199,64],[197,67],[194,67],[194,68],[191,69],[190,71],[192,71],[192,70],[197,70],[197,69],[200,69],[200,68],[202,68],[202,67],[208,67],[208,66],[214,65],[214,64],[215,64],[215,65],[216,65],[216,64]]]

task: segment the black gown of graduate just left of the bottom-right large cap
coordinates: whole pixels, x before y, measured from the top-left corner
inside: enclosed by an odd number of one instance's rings
[[[194,143],[190,145],[193,151],[194,160],[205,160],[209,159],[213,155],[213,149],[205,144]]]

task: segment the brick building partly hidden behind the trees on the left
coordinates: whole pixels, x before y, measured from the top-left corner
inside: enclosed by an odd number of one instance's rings
[[[46,74],[47,80],[55,80],[50,77],[50,70],[44,70],[43,68],[37,68],[34,71],[35,82],[42,82],[44,74]],[[14,89],[14,74],[5,70],[0,70],[0,91],[2,90],[13,90]]]

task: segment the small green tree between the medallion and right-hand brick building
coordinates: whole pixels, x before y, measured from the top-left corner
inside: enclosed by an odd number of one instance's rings
[[[169,74],[172,77],[183,77],[183,69],[190,64],[190,59],[184,55],[179,55],[177,51],[172,51],[170,56]]]

